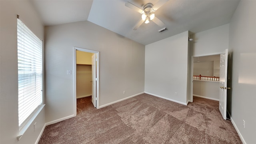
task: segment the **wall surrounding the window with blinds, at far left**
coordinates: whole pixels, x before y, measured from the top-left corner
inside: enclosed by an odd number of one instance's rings
[[[41,40],[44,39],[44,26],[29,1],[0,0],[0,143],[34,144],[45,124],[44,109],[29,126],[21,140],[16,139],[19,132],[17,14],[36,36]],[[34,132],[35,122],[37,129]]]

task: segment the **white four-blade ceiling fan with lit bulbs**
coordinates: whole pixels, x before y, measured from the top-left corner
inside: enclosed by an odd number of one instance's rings
[[[143,22],[145,22],[145,24],[148,24],[150,22],[149,20],[152,20],[158,26],[164,26],[164,22],[159,20],[155,16],[155,14],[153,14],[153,12],[155,12],[158,8],[160,8],[162,5],[164,5],[167,1],[169,1],[169,0],[158,0],[158,2],[156,2],[155,5],[153,5],[152,3],[147,3],[143,6],[143,9],[138,8],[137,6],[135,6],[134,4],[132,4],[130,2],[126,2],[125,6],[127,6],[128,8],[131,8],[131,9],[135,10],[136,12],[139,12],[140,14],[142,14],[142,16],[141,16],[142,19],[134,26],[133,30],[137,30],[137,28]]]

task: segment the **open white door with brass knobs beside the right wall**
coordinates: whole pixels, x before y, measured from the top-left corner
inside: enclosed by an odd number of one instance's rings
[[[220,54],[220,102],[219,110],[224,120],[227,112],[227,75],[228,75],[228,49]]]

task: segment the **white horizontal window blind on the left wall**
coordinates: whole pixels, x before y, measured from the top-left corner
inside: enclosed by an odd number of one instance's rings
[[[42,40],[17,21],[18,116],[22,127],[42,105]]]

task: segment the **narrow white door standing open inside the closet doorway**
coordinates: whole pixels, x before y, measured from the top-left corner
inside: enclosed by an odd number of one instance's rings
[[[95,54],[92,55],[92,104],[96,107],[96,85],[97,85],[97,78],[96,78],[96,58]]]

